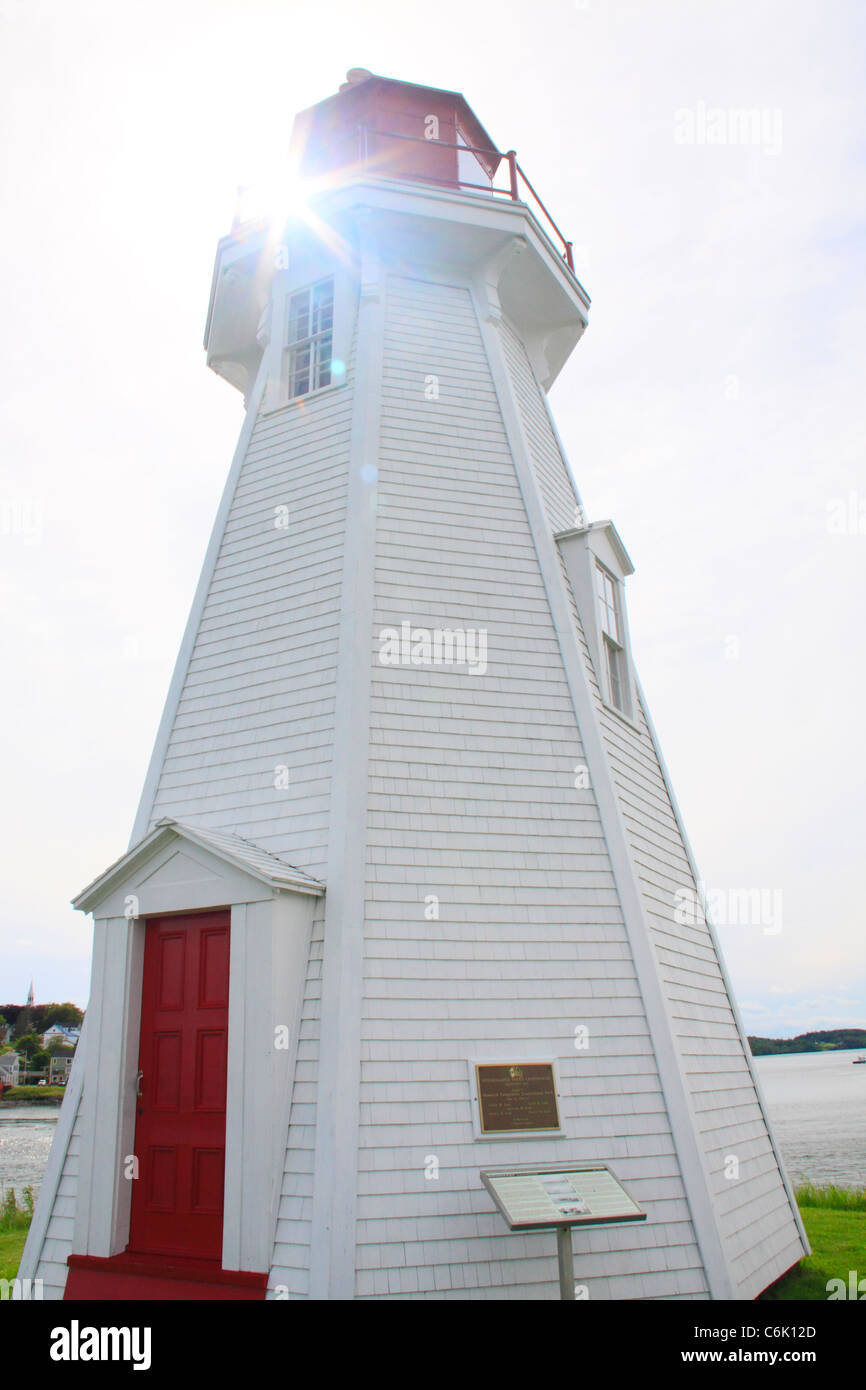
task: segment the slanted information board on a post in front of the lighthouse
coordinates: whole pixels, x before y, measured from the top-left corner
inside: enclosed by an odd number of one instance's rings
[[[512,1230],[556,1230],[559,1297],[574,1301],[573,1226],[646,1220],[606,1163],[487,1168],[481,1182]]]

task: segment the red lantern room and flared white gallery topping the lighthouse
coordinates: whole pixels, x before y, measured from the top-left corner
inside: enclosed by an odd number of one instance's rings
[[[373,243],[395,270],[424,278],[438,267],[477,281],[485,311],[507,314],[549,388],[584,331],[589,297],[574,274],[571,242],[514,150],[496,149],[459,92],[352,68],[334,96],[296,117],[289,165],[285,203],[277,196],[272,208],[250,217],[240,197],[217,249],[207,363],[247,403],[268,343],[264,409],[299,395],[286,366],[292,303],[314,284],[335,282],[327,345],[345,364],[361,245],[370,252]],[[317,381],[329,389],[346,377]]]

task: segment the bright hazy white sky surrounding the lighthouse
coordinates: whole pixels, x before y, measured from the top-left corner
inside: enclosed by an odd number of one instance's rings
[[[70,899],[126,848],[242,423],[215,243],[366,67],[463,92],[574,242],[550,403],[748,1031],[866,1026],[865,40],[853,0],[0,0],[3,1002],[86,1004]]]

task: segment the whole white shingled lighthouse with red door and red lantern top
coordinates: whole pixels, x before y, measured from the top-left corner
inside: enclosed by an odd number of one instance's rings
[[[245,423],[21,1273],[552,1298],[481,1175],[553,1165],[645,1215],[574,1234],[589,1298],[755,1298],[808,1244],[548,406],[567,235],[453,92],[353,70],[292,164],[217,247]]]

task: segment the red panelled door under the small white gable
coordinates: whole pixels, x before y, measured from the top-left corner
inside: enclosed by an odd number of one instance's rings
[[[231,913],[150,917],[126,1250],[222,1264]]]

